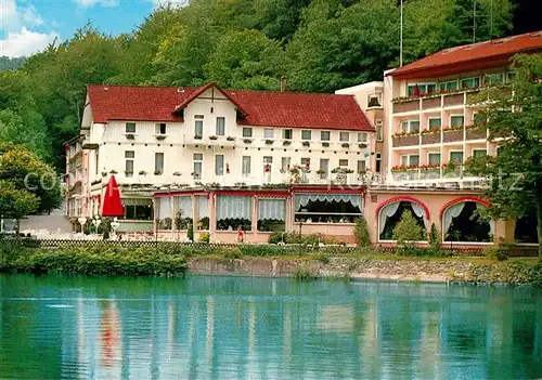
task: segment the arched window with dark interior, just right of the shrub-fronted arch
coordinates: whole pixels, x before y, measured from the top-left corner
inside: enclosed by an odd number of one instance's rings
[[[494,222],[481,217],[483,207],[486,206],[470,200],[449,206],[442,213],[444,241],[491,243]]]

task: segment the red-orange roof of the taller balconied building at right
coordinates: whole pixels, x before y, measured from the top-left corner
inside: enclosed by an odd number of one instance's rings
[[[520,52],[542,51],[542,30],[498,40],[470,43],[441,50],[389,75],[398,79],[429,78],[509,64]]]

